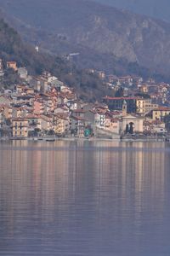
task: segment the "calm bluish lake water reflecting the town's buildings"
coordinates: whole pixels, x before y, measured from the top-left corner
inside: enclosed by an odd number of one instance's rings
[[[170,255],[170,145],[0,143],[0,255]]]

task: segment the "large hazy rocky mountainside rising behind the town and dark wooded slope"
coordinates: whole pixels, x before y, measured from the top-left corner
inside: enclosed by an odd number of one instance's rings
[[[55,54],[78,51],[81,67],[111,72],[120,61],[136,62],[169,74],[170,25],[163,21],[85,0],[0,0],[0,6],[23,38]]]

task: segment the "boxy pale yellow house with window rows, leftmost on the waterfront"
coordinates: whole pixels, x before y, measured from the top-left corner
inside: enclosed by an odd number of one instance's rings
[[[13,137],[28,137],[28,120],[27,119],[13,119]]]

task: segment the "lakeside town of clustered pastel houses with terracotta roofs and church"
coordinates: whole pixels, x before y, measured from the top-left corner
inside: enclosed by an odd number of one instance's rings
[[[170,84],[89,70],[114,95],[89,103],[51,73],[31,76],[15,61],[3,67],[0,60],[0,78],[4,68],[23,82],[1,89],[1,139],[147,138],[167,137],[170,131]]]

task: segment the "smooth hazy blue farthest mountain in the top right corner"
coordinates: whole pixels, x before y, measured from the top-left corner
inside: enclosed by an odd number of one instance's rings
[[[169,0],[95,0],[95,2],[170,22]]]

